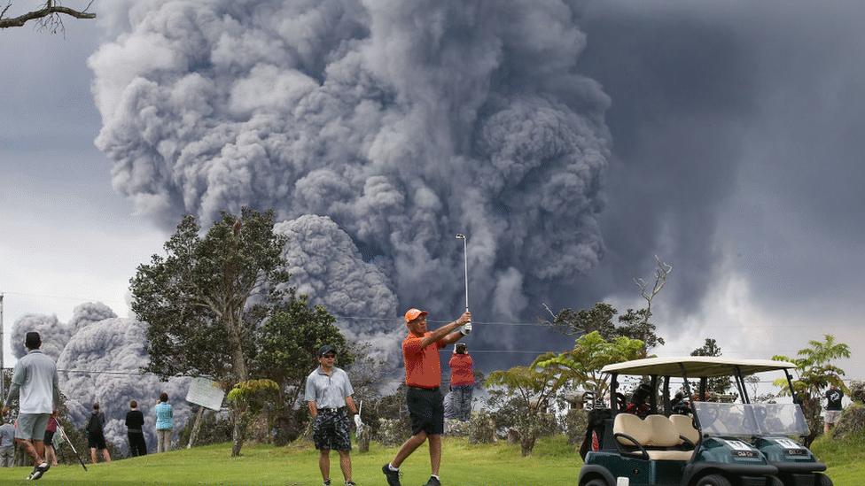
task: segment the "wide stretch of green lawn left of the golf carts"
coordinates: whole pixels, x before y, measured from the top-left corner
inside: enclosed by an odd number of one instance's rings
[[[580,456],[564,436],[544,438],[527,458],[518,445],[471,445],[464,439],[446,437],[443,446],[441,481],[452,486],[480,485],[573,485],[580,473]],[[383,484],[381,466],[393,459],[396,448],[370,445],[370,452],[352,454],[354,480],[359,485]],[[29,467],[0,469],[0,484],[33,484],[24,481]],[[401,467],[402,483],[424,484],[429,478],[427,447],[421,446]],[[339,455],[331,453],[331,480],[342,484]],[[144,458],[116,460],[110,464],[52,467],[43,485],[85,484],[177,484],[177,485],[319,485],[318,452],[311,445],[273,447],[245,445],[243,456],[230,458],[230,444],[197,447],[190,451],[152,454]]]

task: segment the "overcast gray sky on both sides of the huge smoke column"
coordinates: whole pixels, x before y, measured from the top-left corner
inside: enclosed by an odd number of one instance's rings
[[[768,358],[831,333],[853,346],[842,367],[865,377],[865,4],[831,5],[587,4],[577,70],[612,100],[606,252],[550,305],[639,305],[631,278],[658,254],[674,265],[653,304],[659,355],[711,336],[729,356]],[[24,313],[67,320],[82,300],[125,316],[129,278],[167,236],[113,191],[94,146],[87,59],[105,35],[73,20],[65,37],[0,32],[7,336]]]

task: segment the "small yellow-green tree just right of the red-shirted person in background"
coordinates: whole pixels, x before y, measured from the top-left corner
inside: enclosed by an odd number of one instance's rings
[[[514,408],[512,418],[523,456],[532,453],[538,436],[548,428],[547,401],[564,381],[556,370],[538,366],[537,359],[529,366],[494,371],[487,377],[487,386],[501,388],[500,394],[491,392],[494,397],[510,398],[506,402]]]

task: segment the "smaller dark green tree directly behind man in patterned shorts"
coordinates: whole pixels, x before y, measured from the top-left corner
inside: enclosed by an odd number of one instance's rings
[[[336,319],[323,305],[313,307],[307,296],[298,296],[290,289],[284,302],[276,305],[269,318],[255,330],[253,373],[267,376],[279,385],[274,409],[277,443],[293,440],[299,434],[293,406],[304,391],[307,375],[318,366],[318,349],[325,343],[333,346],[339,367],[348,368],[355,361],[355,352],[334,322]],[[306,411],[306,407],[302,410]]]

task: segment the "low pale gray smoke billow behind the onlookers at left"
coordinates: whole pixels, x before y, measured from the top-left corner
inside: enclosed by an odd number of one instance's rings
[[[91,323],[72,336],[57,361],[59,370],[110,372],[61,371],[60,390],[66,396],[69,418],[78,427],[84,426],[91,406],[98,402],[105,413],[105,439],[121,451],[129,448],[125,425],[129,400],[136,400],[138,409],[144,413],[144,435],[149,449],[156,444],[153,407],[160,392],[168,392],[169,403],[174,407],[175,438],[189,417],[189,405],[184,399],[189,378],[160,382],[155,375],[138,373],[149,360],[144,351],[146,326],[143,322],[123,318]]]

